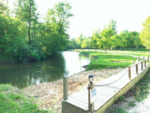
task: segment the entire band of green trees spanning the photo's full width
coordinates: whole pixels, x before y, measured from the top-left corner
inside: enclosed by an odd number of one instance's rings
[[[3,0],[4,1],[4,0]],[[0,1],[0,56],[20,61],[41,60],[61,50],[95,48],[121,49],[146,47],[150,49],[150,16],[142,31],[116,31],[116,21],[110,20],[103,30],[91,36],[82,34],[69,39],[68,19],[73,16],[71,5],[59,2],[48,10],[44,21],[37,11],[35,0],[18,0],[10,10],[8,0]]]

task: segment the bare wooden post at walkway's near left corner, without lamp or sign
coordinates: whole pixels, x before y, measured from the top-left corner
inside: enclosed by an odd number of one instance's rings
[[[68,77],[63,78],[63,99],[68,100]]]

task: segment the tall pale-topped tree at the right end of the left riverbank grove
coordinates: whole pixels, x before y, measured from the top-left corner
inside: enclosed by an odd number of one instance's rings
[[[68,45],[69,35],[66,32],[69,27],[68,19],[73,16],[70,9],[69,3],[60,2],[47,12],[43,46],[48,54],[64,50]]]

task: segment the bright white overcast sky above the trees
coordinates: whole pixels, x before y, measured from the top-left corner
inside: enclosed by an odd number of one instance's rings
[[[10,4],[14,0],[9,0]],[[35,0],[39,13],[44,17],[58,2],[64,0]],[[150,0],[65,0],[72,6],[68,33],[76,38],[81,33],[91,36],[103,30],[111,19],[117,21],[117,32],[142,30],[142,23],[150,16]]]

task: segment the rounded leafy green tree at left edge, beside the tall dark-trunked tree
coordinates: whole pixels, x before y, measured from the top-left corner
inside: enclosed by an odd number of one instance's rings
[[[5,56],[15,56],[18,48],[26,42],[27,27],[25,23],[9,16],[0,15],[0,49]]]

